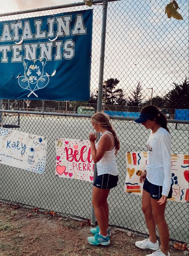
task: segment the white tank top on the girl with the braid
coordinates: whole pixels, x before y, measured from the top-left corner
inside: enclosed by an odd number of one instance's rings
[[[108,134],[108,133],[111,133],[111,132],[110,131],[105,131],[105,133],[103,133],[102,136],[104,134]],[[100,139],[102,138],[102,136],[100,137]],[[111,136],[110,136],[110,138],[112,140]],[[100,141],[100,139],[99,139],[99,141]],[[95,144],[96,149],[98,148],[99,141]],[[118,175],[118,167],[116,165],[115,151],[116,151],[115,147],[114,147],[114,149],[112,149],[110,151],[106,151],[104,153],[103,157],[100,159],[100,161],[98,161],[96,163],[97,175],[98,176],[102,175],[102,174],[111,174],[111,175],[114,175],[114,176]]]

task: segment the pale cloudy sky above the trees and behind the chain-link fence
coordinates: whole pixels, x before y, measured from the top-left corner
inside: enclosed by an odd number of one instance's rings
[[[57,6],[82,0],[6,0],[0,12]],[[183,20],[167,18],[169,0],[120,0],[108,3],[104,80],[117,78],[125,96],[140,81],[145,99],[164,96],[188,76],[188,1],[177,0]],[[83,10],[86,6],[65,11]],[[98,89],[102,6],[92,6],[91,92]],[[57,10],[58,12],[58,10]],[[61,9],[62,12],[62,9]],[[54,13],[54,11],[53,11]],[[49,12],[48,12],[49,14]],[[22,18],[24,18],[22,16]]]

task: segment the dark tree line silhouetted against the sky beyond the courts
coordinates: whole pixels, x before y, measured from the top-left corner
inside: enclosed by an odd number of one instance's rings
[[[165,96],[155,96],[148,100],[145,100],[142,95],[142,85],[140,81],[131,91],[130,97],[126,97],[124,91],[118,88],[119,82],[120,81],[116,78],[110,78],[104,81],[102,89],[103,104],[131,107],[142,107],[152,104],[159,108],[189,109],[189,79],[187,77],[181,84],[173,83],[173,89]],[[88,103],[97,104],[97,98],[98,91],[91,93]]]

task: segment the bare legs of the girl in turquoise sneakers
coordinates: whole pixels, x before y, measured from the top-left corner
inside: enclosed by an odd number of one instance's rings
[[[107,197],[110,189],[98,189],[93,187],[93,207],[95,210],[96,220],[100,228],[100,234],[102,236],[107,235],[107,218],[108,218],[108,204]]]

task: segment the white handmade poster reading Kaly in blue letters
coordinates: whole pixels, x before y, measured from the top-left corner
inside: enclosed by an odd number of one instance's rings
[[[42,174],[45,170],[47,139],[0,127],[0,164]]]

